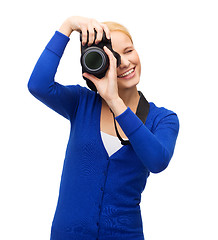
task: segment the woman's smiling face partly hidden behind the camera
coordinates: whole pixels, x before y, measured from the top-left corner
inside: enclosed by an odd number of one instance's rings
[[[141,63],[132,41],[126,34],[112,31],[111,42],[113,50],[121,56],[121,64],[117,68],[118,88],[135,87],[140,80]]]

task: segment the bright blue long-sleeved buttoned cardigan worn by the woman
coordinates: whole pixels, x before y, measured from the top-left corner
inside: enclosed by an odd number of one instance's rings
[[[51,239],[143,240],[141,193],[150,172],[169,164],[178,117],[150,102],[144,125],[128,107],[116,120],[131,144],[109,157],[100,134],[100,95],[54,81],[69,40],[55,32],[28,82],[33,96],[71,123]]]

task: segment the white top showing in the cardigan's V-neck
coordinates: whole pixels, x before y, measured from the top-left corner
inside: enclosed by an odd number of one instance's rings
[[[115,152],[117,152],[123,146],[118,137],[112,136],[102,131],[101,131],[101,138],[109,157]],[[124,139],[124,140],[128,140],[128,139]]]

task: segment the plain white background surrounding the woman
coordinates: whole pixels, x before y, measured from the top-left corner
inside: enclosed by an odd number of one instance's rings
[[[138,89],[179,116],[170,165],[150,175],[142,194],[145,240],[218,239],[217,12],[215,0],[1,3],[0,239],[49,239],[70,124],[27,82],[71,15],[124,24],[141,59]],[[79,57],[74,32],[56,81],[85,86]]]

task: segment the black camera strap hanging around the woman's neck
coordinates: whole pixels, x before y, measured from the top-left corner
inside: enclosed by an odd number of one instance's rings
[[[142,94],[142,92],[138,91],[138,93],[139,93],[140,99],[139,99],[139,103],[138,103],[137,110],[136,110],[136,116],[143,122],[143,124],[145,124],[150,105],[149,105],[147,99]],[[123,140],[122,137],[120,136],[118,129],[117,129],[117,125],[116,125],[115,115],[112,110],[111,110],[111,112],[114,116],[114,126],[115,126],[115,130],[116,130],[116,134],[117,134],[117,137],[119,138],[119,140],[121,141],[121,144],[122,145],[130,144],[129,140]]]

